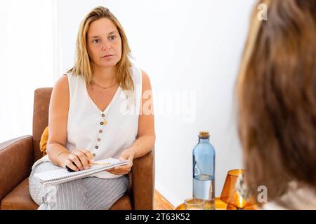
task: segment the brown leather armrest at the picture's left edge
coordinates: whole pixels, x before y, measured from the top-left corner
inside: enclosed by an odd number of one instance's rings
[[[33,138],[23,136],[0,143],[0,202],[22,180],[33,165]]]

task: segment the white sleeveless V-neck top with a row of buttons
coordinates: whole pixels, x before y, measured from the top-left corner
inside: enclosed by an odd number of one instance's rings
[[[66,148],[71,152],[75,148],[86,149],[93,153],[93,160],[119,158],[121,152],[136,140],[138,134],[138,116],[142,95],[142,72],[132,67],[134,91],[128,94],[119,86],[105,111],[100,111],[88,95],[86,83],[81,76],[67,73],[70,105],[67,120]],[[48,155],[34,163],[50,161]],[[117,178],[109,172],[93,174],[98,178]]]

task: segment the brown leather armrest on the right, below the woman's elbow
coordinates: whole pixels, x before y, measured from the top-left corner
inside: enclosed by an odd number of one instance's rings
[[[136,210],[154,207],[154,148],[141,158],[133,160],[133,204]]]

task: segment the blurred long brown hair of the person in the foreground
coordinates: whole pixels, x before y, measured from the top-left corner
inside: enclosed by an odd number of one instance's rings
[[[277,201],[297,181],[316,189],[316,1],[263,0],[237,78],[239,139],[253,195]],[[262,204],[260,204],[262,206]]]

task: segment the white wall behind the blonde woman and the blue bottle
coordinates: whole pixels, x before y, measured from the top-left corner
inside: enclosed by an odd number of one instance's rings
[[[228,170],[242,168],[233,91],[254,0],[60,1],[63,71],[74,62],[79,22],[99,5],[119,19],[152,81],[156,189],[175,206],[192,196],[192,148],[208,130],[219,196]]]

